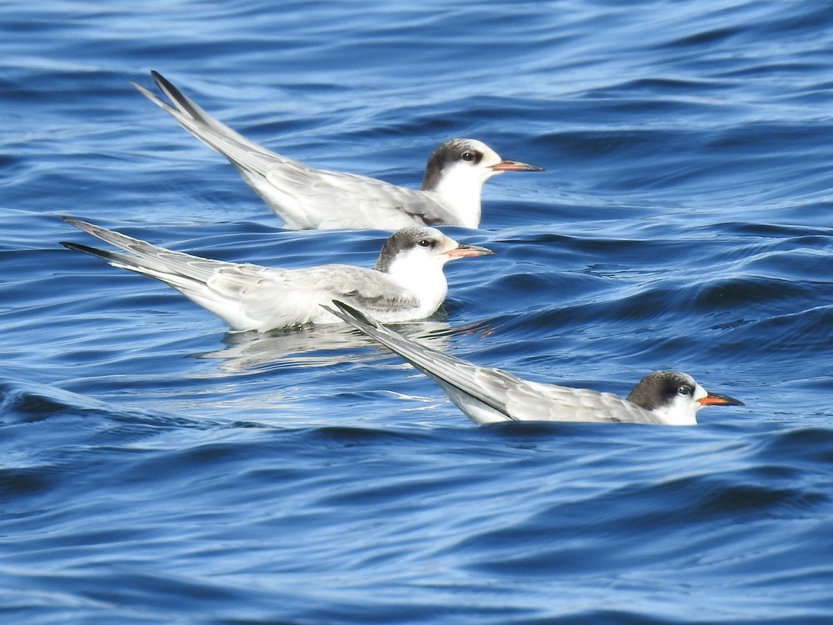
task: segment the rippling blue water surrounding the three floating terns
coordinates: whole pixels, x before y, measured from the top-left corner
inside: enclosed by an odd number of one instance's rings
[[[833,622],[833,10],[758,2],[0,3],[0,616]],[[479,138],[496,250],[405,327],[526,378],[677,368],[696,428],[478,428],[339,328],[228,333],[58,242],[370,266],[284,231],[128,83],[416,186]]]

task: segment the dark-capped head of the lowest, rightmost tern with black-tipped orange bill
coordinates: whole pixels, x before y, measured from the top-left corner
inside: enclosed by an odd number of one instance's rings
[[[694,425],[697,411],[706,406],[743,406],[735,398],[708,393],[694,378],[679,371],[649,373],[627,398],[669,425]]]

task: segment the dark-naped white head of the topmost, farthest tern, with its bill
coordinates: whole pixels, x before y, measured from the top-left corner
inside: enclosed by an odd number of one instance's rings
[[[421,188],[451,197],[476,193],[479,201],[483,183],[498,173],[543,171],[529,163],[507,161],[476,139],[449,139],[428,158]]]

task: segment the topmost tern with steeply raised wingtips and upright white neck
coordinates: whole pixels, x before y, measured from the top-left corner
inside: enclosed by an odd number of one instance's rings
[[[151,72],[167,96],[139,92],[169,112],[194,137],[226,157],[287,228],[375,228],[480,225],[481,189],[503,172],[541,172],[507,161],[475,139],[450,139],[431,154],[417,191],[376,178],[313,169],[263,148],[203,111],[159,72]]]

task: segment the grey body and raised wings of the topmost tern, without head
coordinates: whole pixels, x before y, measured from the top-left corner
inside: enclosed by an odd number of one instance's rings
[[[395,230],[412,225],[461,225],[430,193],[310,168],[267,150],[217,121],[171,82],[152,73],[173,106],[135,82],[133,87],[226,157],[289,228]]]

